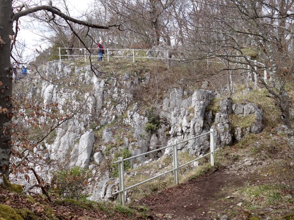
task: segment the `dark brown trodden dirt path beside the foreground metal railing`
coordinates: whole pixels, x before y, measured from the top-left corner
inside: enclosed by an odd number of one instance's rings
[[[153,219],[211,219],[216,203],[225,195],[222,188],[245,185],[247,175],[228,174],[225,171],[168,188],[153,197],[140,201],[151,209]],[[229,208],[229,207],[228,207]]]

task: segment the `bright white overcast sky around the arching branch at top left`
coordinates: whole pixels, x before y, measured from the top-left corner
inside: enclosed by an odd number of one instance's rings
[[[83,11],[90,10],[88,4],[92,0],[66,0],[66,4],[69,8],[69,12],[71,16],[79,16],[82,14]],[[48,1],[43,1],[42,4],[47,4]],[[54,6],[57,6],[59,3],[62,2],[62,0],[55,0],[52,1]],[[64,10],[62,10],[64,12]],[[29,55],[31,53],[34,53],[36,51],[36,48],[40,50],[40,46],[42,49],[45,49],[48,45],[46,43],[40,42],[40,36],[37,34],[37,29],[34,30],[34,27],[38,26],[39,23],[30,23],[30,26],[33,27],[31,30],[28,30],[25,28],[26,26],[26,18],[23,17],[20,19],[21,26],[24,26],[21,28],[21,30],[18,33],[17,40],[20,42],[25,42],[26,44],[26,51],[25,56]],[[36,27],[37,28],[37,27]]]

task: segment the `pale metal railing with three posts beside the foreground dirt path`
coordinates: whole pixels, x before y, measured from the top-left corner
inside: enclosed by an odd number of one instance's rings
[[[210,134],[210,152],[207,153],[207,154],[205,154],[205,155],[203,155],[203,156],[201,156],[201,157],[198,157],[198,158],[196,158],[194,160],[191,160],[188,163],[185,163],[185,164],[182,164],[182,165],[179,165],[178,166],[178,146],[177,145],[178,144],[181,144],[181,143],[184,143],[184,142],[187,142],[187,141],[191,141],[191,140],[193,140],[195,138],[199,138],[201,136],[208,135],[208,134]],[[122,157],[119,157],[118,158],[118,161],[113,162],[114,164],[118,163],[119,191],[113,193],[112,195],[119,194],[119,202],[120,202],[121,205],[124,205],[125,204],[125,192],[128,189],[132,189],[133,187],[136,187],[136,186],[141,185],[143,183],[146,183],[148,181],[154,180],[154,179],[156,179],[156,178],[158,178],[158,177],[160,177],[162,175],[165,175],[165,174],[167,174],[169,172],[173,172],[174,183],[175,183],[175,185],[178,185],[179,184],[179,181],[178,181],[178,170],[179,170],[179,168],[184,167],[184,166],[186,166],[186,165],[188,165],[190,163],[193,163],[193,162],[195,162],[195,161],[197,161],[197,160],[199,160],[199,159],[201,159],[203,157],[206,157],[208,155],[210,155],[211,166],[214,166],[214,152],[218,151],[220,148],[214,150],[214,139],[213,139],[213,137],[214,137],[214,130],[213,129],[210,129],[209,132],[206,132],[206,133],[203,133],[201,135],[198,135],[198,136],[189,138],[187,140],[183,140],[183,141],[179,141],[179,142],[175,141],[171,145],[168,145],[168,146],[165,146],[165,147],[156,149],[156,150],[151,150],[149,152],[142,153],[142,154],[139,154],[139,155],[136,155],[136,156],[133,156],[133,157],[129,157],[129,158],[125,158],[125,159],[122,158]],[[159,174],[159,175],[157,175],[155,177],[152,177],[152,178],[150,178],[148,180],[144,180],[143,182],[139,182],[139,183],[137,183],[135,185],[132,185],[130,187],[125,188],[125,183],[124,183],[124,170],[123,170],[123,162],[124,161],[131,160],[131,159],[134,159],[134,158],[137,158],[137,157],[140,157],[140,156],[149,154],[149,153],[153,153],[153,152],[156,152],[158,150],[163,150],[163,149],[166,149],[166,148],[169,148],[169,147],[173,147],[173,169],[168,170],[168,171],[166,171],[164,173],[161,173],[161,174]]]

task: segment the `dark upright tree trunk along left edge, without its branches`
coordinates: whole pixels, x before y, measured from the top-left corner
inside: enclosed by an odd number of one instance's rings
[[[11,155],[12,68],[9,35],[12,29],[11,0],[0,0],[0,172],[8,179]]]

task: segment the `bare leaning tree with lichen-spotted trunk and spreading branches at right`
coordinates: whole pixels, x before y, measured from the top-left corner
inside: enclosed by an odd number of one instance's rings
[[[213,62],[228,64],[210,68],[206,75],[254,72],[280,110],[285,134],[294,150],[290,121],[293,100],[286,89],[287,83],[293,82],[293,12],[293,3],[287,0],[203,1],[186,18],[185,42],[200,52],[193,55],[194,59],[206,56]],[[246,50],[256,52],[259,62],[248,59]],[[270,80],[264,78],[264,71]]]

